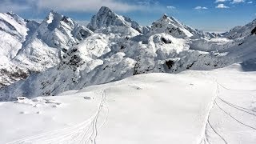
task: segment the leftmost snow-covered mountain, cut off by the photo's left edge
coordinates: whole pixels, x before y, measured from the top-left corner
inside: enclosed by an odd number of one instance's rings
[[[38,23],[25,20],[14,13],[0,13],[0,87],[24,79],[29,75],[26,68],[12,62],[22,49],[26,37],[34,33]]]

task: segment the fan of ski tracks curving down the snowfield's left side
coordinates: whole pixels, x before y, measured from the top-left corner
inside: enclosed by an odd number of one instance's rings
[[[109,108],[106,103],[106,90],[102,92],[102,98],[98,106],[98,110],[86,121],[79,123],[75,126],[70,126],[60,130],[51,130],[49,132],[38,134],[35,136],[22,138],[14,142],[8,142],[7,144],[17,144],[26,142],[35,143],[91,143],[96,144],[96,138],[98,135],[98,129],[106,124]],[[106,108],[106,118],[102,122],[102,125],[98,126],[98,117],[102,111],[102,108]]]

